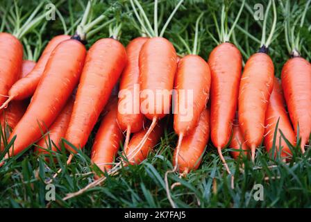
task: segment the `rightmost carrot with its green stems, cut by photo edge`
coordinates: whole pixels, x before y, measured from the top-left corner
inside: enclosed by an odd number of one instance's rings
[[[289,117],[292,120],[294,131],[297,135],[297,143],[301,142],[301,152],[305,153],[305,145],[309,143],[311,133],[311,65],[310,62],[301,57],[301,40],[300,31],[303,30],[305,18],[311,1],[305,1],[305,8],[302,13],[291,24],[291,16],[296,15],[296,7],[291,10],[289,1],[285,4],[285,42],[287,50],[291,57],[283,66],[281,79],[282,87],[287,103]],[[299,17],[301,21],[299,23]],[[296,26],[298,30],[295,30]]]

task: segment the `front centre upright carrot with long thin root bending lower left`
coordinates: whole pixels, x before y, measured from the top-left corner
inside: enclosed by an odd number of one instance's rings
[[[137,152],[144,146],[159,119],[169,113],[171,90],[177,67],[173,44],[164,37],[151,37],[140,51],[140,111],[152,120],[149,130],[137,144]]]

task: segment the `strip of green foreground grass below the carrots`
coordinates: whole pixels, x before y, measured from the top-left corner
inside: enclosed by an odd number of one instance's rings
[[[56,201],[51,201],[49,207],[170,207],[163,178],[165,171],[172,167],[175,140],[174,134],[169,134],[142,164],[124,167],[116,176],[108,176],[103,185],[66,201],[62,201],[66,194],[93,181],[90,150],[76,155],[67,167],[64,166],[66,155],[58,154],[65,171],[52,182],[56,187]],[[170,185],[181,184],[171,195],[178,207],[310,207],[310,157],[309,150],[301,155],[297,149],[291,162],[285,164],[271,160],[262,148],[255,163],[247,159],[235,161],[226,155],[235,174],[235,189],[231,189],[230,176],[215,148],[209,145],[197,171],[186,178],[178,178],[177,174],[169,176]],[[0,169],[0,207],[47,207],[45,182],[58,169],[58,165],[44,162],[33,151],[19,160],[13,158]],[[262,201],[253,198],[255,184],[264,187]]]

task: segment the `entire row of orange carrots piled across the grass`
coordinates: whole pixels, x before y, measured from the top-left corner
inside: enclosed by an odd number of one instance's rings
[[[121,114],[120,104],[135,106],[149,101],[139,94],[131,99],[110,96],[118,80],[120,91],[133,92],[135,84],[154,95],[158,89],[177,89],[173,98],[176,104],[187,103],[180,99],[178,90],[193,90],[194,101],[185,104],[194,107],[191,120],[182,121],[180,114],[174,112],[178,142],[173,171],[187,173],[199,167],[209,139],[229,173],[221,153],[227,146],[250,150],[254,160],[255,148],[263,138],[269,151],[274,146],[275,133],[279,139],[282,132],[291,144],[296,144],[295,135],[299,133],[304,152],[311,133],[310,62],[300,56],[289,59],[280,83],[274,77],[274,64],[267,53],[269,41],[247,60],[242,74],[241,53],[228,40],[219,44],[206,62],[194,53],[178,58],[169,40],[155,34],[158,31],[149,33],[149,37],[132,40],[126,49],[114,38],[103,38],[88,51],[82,44],[85,35],[58,35],[47,44],[36,64],[22,61],[22,44],[16,37],[0,33],[0,103],[5,108],[1,126],[6,128],[6,121],[12,128],[8,141],[3,138],[1,144],[14,141],[1,164],[36,142],[39,153],[57,151],[64,143],[71,153],[69,163],[87,143],[103,110],[106,114],[94,140],[92,162],[109,171],[126,131],[124,157],[130,164],[140,163],[160,141],[162,119],[169,107],[162,102],[161,112],[157,113],[154,111],[158,107],[150,103],[149,112],[144,114]],[[289,157],[291,151],[283,136],[275,145],[282,148],[281,156]],[[239,153],[243,152],[233,152],[233,157]]]

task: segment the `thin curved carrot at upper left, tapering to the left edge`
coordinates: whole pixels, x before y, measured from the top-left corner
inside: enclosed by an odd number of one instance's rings
[[[58,35],[56,37],[53,37],[53,39],[44,49],[42,56],[37,61],[37,64],[35,65],[35,68],[31,71],[31,73],[28,74],[25,78],[21,78],[16,83],[14,83],[12,87],[10,87],[10,90],[8,91],[9,97],[6,102],[1,105],[0,109],[5,108],[8,103],[10,103],[10,101],[12,101],[13,99],[22,100],[33,95],[53,49],[55,49],[60,42],[63,42],[64,40],[69,40],[69,38],[69,35]]]

